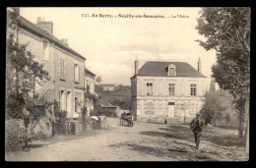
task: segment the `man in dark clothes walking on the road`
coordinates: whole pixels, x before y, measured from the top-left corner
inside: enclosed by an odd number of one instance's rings
[[[195,142],[196,142],[196,149],[199,148],[199,142],[200,142],[200,137],[201,137],[201,132],[202,132],[202,128],[204,126],[204,122],[203,120],[200,118],[200,114],[197,113],[196,114],[196,118],[194,118],[191,122],[190,122],[190,129],[192,130],[192,132],[194,133],[194,137],[195,137]]]

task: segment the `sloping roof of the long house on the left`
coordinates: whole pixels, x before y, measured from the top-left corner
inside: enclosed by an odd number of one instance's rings
[[[61,40],[59,40],[58,38],[56,38],[53,34],[51,34],[50,32],[48,32],[47,30],[43,29],[43,28],[39,28],[38,26],[32,24],[32,22],[28,21],[27,19],[23,18],[22,16],[19,17],[20,23],[21,23],[21,28],[25,28],[29,31],[31,31],[33,34],[36,34],[38,36],[43,36],[45,38],[47,38],[48,40],[52,41],[55,43],[55,45],[58,45],[59,47],[61,47],[62,49],[82,58],[82,59],[86,59],[85,57],[83,57],[82,55],[80,55],[79,53],[77,53],[76,51],[74,51],[72,48],[70,48],[69,46],[65,45],[63,42],[61,42]]]

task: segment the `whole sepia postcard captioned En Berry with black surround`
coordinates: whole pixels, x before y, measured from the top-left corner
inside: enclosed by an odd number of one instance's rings
[[[6,13],[6,161],[248,161],[250,8]]]

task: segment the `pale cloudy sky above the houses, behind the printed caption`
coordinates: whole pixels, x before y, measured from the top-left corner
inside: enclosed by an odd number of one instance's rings
[[[187,62],[197,69],[199,57],[202,74],[210,84],[216,52],[206,51],[195,41],[205,40],[195,28],[200,8],[36,7],[20,10],[21,16],[33,24],[37,17],[53,22],[53,35],[68,38],[69,46],[87,59],[86,67],[101,77],[102,84],[130,85],[135,60]],[[108,15],[112,18],[106,18]],[[132,19],[118,17],[120,15],[165,18]]]

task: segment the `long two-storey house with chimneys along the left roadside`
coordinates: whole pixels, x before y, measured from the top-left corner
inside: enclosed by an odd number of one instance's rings
[[[59,40],[53,35],[53,23],[37,18],[37,23],[20,17],[19,42],[29,42],[28,50],[34,60],[44,64],[51,79],[35,83],[32,96],[35,102],[57,100],[67,117],[77,119],[81,114],[85,93],[86,58],[68,45],[67,39]]]

